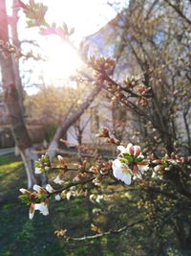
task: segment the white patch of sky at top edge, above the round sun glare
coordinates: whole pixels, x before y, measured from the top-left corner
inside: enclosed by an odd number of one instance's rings
[[[49,20],[62,24],[65,21],[75,28],[75,35],[95,33],[100,27],[116,16],[115,10],[107,4],[107,0],[45,0],[50,9]]]

